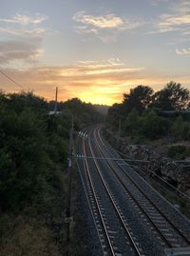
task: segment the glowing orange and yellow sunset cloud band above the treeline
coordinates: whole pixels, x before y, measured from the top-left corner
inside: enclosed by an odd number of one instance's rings
[[[26,90],[33,89],[47,100],[54,98],[55,87],[59,87],[59,100],[79,97],[85,102],[112,105],[121,102],[123,92],[137,85],[153,86],[161,89],[170,80],[188,84],[188,77],[163,77],[148,75],[142,67],[126,67],[120,60],[103,62],[78,62],[73,66],[36,67],[26,70],[4,69]],[[7,91],[19,88],[0,74],[0,86]]]

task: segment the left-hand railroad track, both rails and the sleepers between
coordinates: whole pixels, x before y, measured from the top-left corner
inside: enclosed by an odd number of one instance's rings
[[[86,144],[86,140],[83,139],[83,154],[86,155],[87,148],[93,156],[90,141],[88,145]],[[84,181],[104,255],[144,255],[139,245],[136,245],[135,238],[104,181],[97,161],[91,160],[87,161],[86,158],[84,160]]]

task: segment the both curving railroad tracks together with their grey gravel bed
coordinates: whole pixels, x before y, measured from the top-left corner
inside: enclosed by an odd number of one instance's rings
[[[112,160],[121,157],[103,141],[101,127],[86,133],[78,151],[83,161],[77,162],[103,255],[159,256],[164,248],[189,246],[189,235],[147,196],[142,179],[123,160]]]

